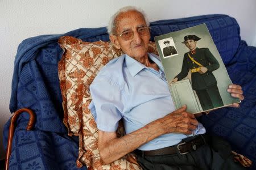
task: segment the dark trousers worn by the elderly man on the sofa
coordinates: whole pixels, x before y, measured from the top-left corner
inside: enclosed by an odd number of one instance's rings
[[[229,144],[221,138],[214,137],[213,142],[197,150],[181,155],[142,156],[137,155],[137,160],[143,169],[246,169],[233,160]],[[213,145],[213,146],[211,146]]]

